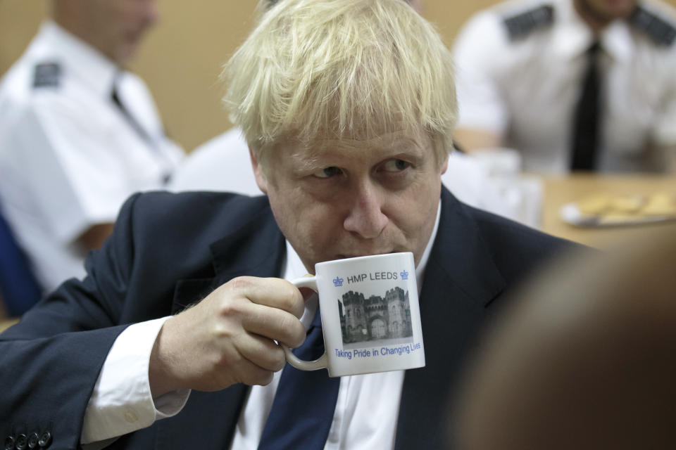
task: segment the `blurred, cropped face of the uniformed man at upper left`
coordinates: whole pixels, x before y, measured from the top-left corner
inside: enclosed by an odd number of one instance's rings
[[[89,20],[87,41],[119,65],[159,17],[156,0],[86,0],[82,8]]]

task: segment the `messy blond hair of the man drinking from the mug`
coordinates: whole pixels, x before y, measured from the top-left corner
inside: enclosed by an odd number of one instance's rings
[[[223,98],[263,162],[280,139],[372,139],[426,131],[451,151],[451,54],[402,0],[283,0],[226,63]]]

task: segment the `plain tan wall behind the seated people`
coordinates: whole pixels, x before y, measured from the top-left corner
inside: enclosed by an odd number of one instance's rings
[[[676,0],[666,2],[676,6]],[[496,3],[424,0],[423,16],[451,46],[472,13]],[[230,128],[218,74],[251,29],[255,6],[254,0],[159,2],[160,23],[143,41],[131,70],[148,84],[168,133],[187,152]],[[0,73],[21,55],[45,13],[45,1],[0,1]]]

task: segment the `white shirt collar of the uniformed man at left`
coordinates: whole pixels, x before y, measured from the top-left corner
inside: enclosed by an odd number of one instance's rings
[[[50,53],[58,58],[55,62],[63,63],[69,76],[77,83],[86,85],[101,96],[111,95],[113,81],[120,68],[103,53],[52,20],[42,24],[39,39],[49,46]]]

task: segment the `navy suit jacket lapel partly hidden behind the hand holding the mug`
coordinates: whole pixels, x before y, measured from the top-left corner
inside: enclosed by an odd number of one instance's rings
[[[214,276],[179,281],[173,311],[200,302],[237,276],[280,276],[284,236],[269,208],[210,248]],[[249,387],[242,384],[219,392],[192,392],[180,414],[158,421],[156,448],[227,448],[248,392]]]

